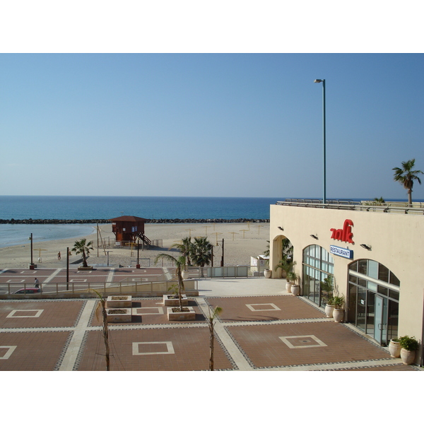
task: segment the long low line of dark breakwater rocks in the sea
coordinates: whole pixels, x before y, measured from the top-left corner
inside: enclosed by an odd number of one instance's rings
[[[150,224],[269,223],[269,219],[146,219]],[[108,219],[0,219],[0,224],[110,224]]]

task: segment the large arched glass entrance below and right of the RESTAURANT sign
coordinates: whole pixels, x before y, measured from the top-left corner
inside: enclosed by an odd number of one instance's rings
[[[387,346],[398,336],[399,278],[371,259],[352,262],[348,272],[348,322]]]

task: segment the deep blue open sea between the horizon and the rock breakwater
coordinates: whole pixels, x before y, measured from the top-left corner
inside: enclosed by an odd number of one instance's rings
[[[0,196],[0,219],[269,219],[282,198]]]

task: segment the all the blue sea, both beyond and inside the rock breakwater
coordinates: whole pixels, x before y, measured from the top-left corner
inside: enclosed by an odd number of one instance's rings
[[[0,196],[0,219],[269,219],[269,206],[285,197]],[[359,200],[359,199],[351,199]],[[362,199],[367,200],[367,199]],[[405,199],[390,199],[390,201]],[[0,247],[87,237],[95,224],[0,224]]]

